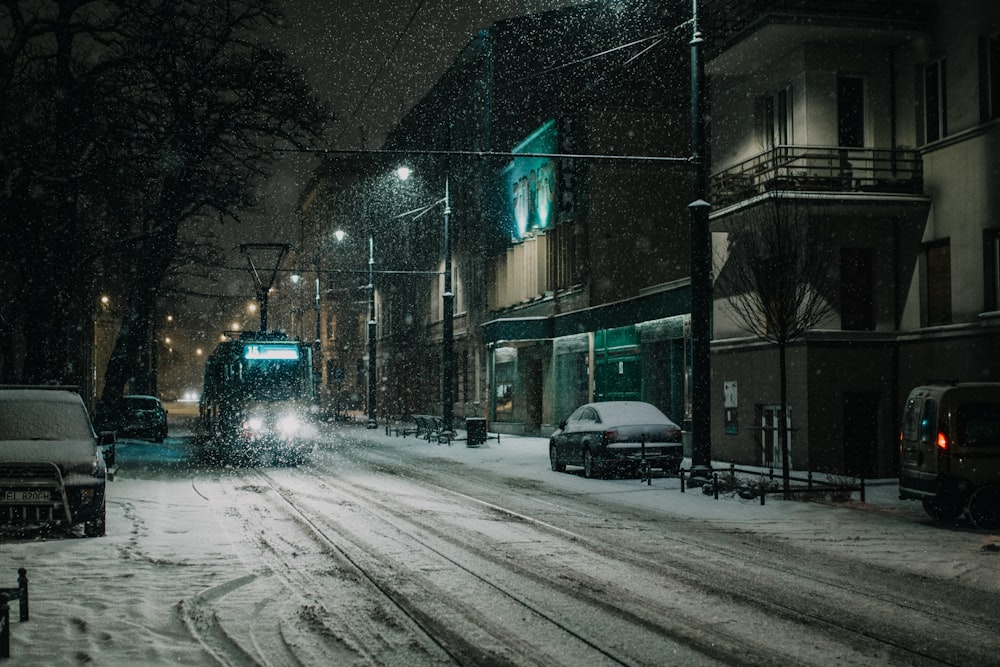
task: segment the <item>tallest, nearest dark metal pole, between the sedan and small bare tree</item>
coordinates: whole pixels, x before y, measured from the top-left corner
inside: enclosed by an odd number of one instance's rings
[[[691,481],[707,482],[712,468],[711,339],[712,339],[712,235],[708,230],[707,165],[702,87],[705,67],[701,60],[704,38],[698,30],[698,0],[692,0],[691,36]]]

